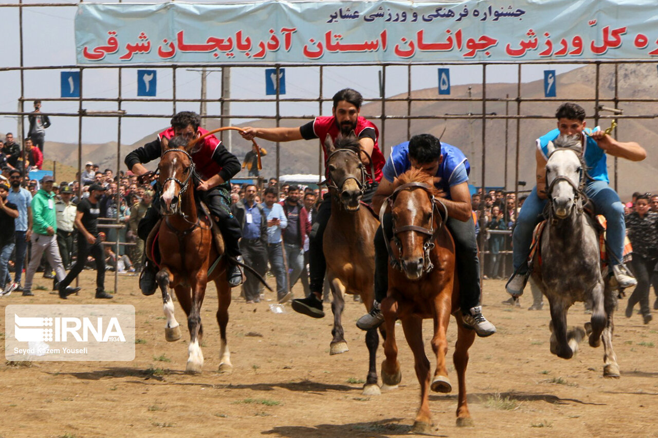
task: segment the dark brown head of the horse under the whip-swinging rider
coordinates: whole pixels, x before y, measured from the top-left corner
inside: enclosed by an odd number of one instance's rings
[[[327,135],[324,146],[329,155],[326,162],[327,186],[345,210],[359,210],[366,181],[366,169],[359,158],[359,140],[354,135],[338,135],[334,143]]]

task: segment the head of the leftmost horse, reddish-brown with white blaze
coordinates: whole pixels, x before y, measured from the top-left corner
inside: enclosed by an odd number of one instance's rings
[[[188,153],[188,140],[178,136],[161,140],[162,156],[158,165],[161,187],[160,208],[163,216],[178,214],[181,198],[188,189],[194,173],[194,162]]]

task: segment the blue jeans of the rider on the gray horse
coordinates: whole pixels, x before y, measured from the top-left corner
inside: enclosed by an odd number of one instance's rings
[[[620,264],[624,253],[624,236],[626,235],[626,222],[624,222],[624,205],[619,195],[605,181],[592,181],[585,186],[585,194],[594,203],[594,214],[602,214],[607,221],[606,238],[611,256],[610,266]],[[517,218],[517,226],[512,236],[514,269],[521,274],[527,272],[527,260],[532,244],[532,231],[542,220],[542,212],[548,201],[539,199],[537,187],[532,189],[530,195],[523,203]]]

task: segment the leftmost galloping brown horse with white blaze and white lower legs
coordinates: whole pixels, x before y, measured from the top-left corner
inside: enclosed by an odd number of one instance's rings
[[[220,329],[220,372],[230,372],[233,368],[226,343],[228,306],[231,304],[231,289],[226,281],[226,257],[213,268],[209,268],[219,258],[212,222],[206,214],[199,214],[200,205],[194,198],[194,162],[190,157],[191,148],[182,137],[170,141],[163,139],[163,154],[158,165],[159,183],[162,187],[161,210],[164,216],[159,228],[158,245],[161,254],[160,270],[156,280],[162,290],[167,341],[177,341],[181,337],[180,327],[174,318],[174,303],[170,290],[176,291],[176,298],[188,316],[190,345],[186,373],[200,373],[203,368],[201,353],[201,304],[208,281],[215,281],[218,295],[217,322]]]

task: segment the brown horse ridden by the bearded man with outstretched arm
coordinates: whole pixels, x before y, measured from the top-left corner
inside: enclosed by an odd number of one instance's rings
[[[360,295],[368,312],[374,300],[374,234],[379,221],[361,207],[365,189],[365,166],[359,158],[359,141],[353,136],[325,139],[329,158],[326,163],[328,187],[332,196],[331,217],[324,231],[323,246],[326,258],[326,277],[334,301],[334,328],[330,354],[345,353],[347,343],[343,337],[341,316],[345,306],[345,293]],[[380,394],[377,385],[376,354],[379,335],[376,329],[366,333],[370,353],[368,377],[363,387],[365,395]]]

